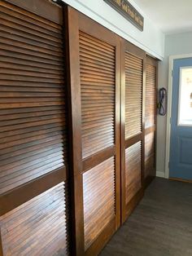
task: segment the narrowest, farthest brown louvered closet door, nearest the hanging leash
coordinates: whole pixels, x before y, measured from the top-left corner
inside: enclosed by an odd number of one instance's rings
[[[146,57],[145,185],[155,177],[157,60]]]

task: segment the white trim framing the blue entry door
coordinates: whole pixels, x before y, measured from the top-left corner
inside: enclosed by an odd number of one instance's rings
[[[167,131],[166,131],[166,152],[165,152],[165,178],[169,178],[169,153],[171,139],[171,117],[172,117],[172,68],[173,60],[192,58],[191,54],[185,55],[170,55],[168,65],[168,113],[167,113]]]

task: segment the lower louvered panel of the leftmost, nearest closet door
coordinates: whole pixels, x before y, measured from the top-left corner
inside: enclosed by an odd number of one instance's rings
[[[68,254],[66,184],[0,217],[3,255]]]

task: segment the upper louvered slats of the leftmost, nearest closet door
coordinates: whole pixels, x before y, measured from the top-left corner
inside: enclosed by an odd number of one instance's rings
[[[36,31],[39,31],[41,35],[46,33],[51,34],[55,42],[59,43],[63,29],[62,26],[58,25],[57,29],[55,29],[56,31],[53,32],[52,29],[48,29],[48,26],[45,28],[46,22],[37,21],[36,24],[35,18],[21,20],[20,18],[23,18],[24,15],[20,14],[19,10],[18,7],[14,7],[13,10],[10,10],[10,5],[1,3],[2,12],[0,17],[5,20],[3,23],[5,27],[7,26],[7,22],[11,20],[13,24],[19,24],[20,26],[22,25],[28,28],[29,34],[36,33]],[[27,15],[27,13],[25,13],[25,15]],[[9,59],[6,59],[6,63],[1,61],[0,135],[2,135],[2,139],[0,155],[4,161],[7,160],[7,162],[12,163],[12,165],[7,166],[6,164],[4,167],[2,161],[0,163],[1,193],[7,192],[22,183],[26,183],[31,179],[65,165],[63,148],[59,148],[59,144],[63,143],[63,130],[65,130],[66,123],[63,101],[65,98],[63,92],[64,71],[61,67],[60,70],[52,67],[54,74],[51,74],[49,72],[50,68],[45,67],[43,73],[40,73],[40,70],[34,71],[33,69],[33,66],[39,63],[38,59],[30,60],[30,55],[33,55],[34,59],[34,56],[37,55],[37,57],[41,57],[42,60],[44,60],[44,58],[50,58],[50,60],[59,62],[62,60],[63,46],[62,44],[60,44],[60,46],[58,45],[56,51],[56,47],[45,47],[41,45],[41,43],[38,43],[36,38],[28,39],[23,37],[22,39],[17,37],[18,29],[14,29],[13,26],[12,30],[15,31],[14,34],[3,32],[3,37],[0,39],[0,43],[2,42],[4,44],[2,49],[5,48],[7,52],[10,53],[11,51],[20,52],[20,56],[18,56],[20,63],[17,63],[15,66],[6,64],[7,62],[9,63]],[[49,42],[49,40],[47,40],[47,42]],[[24,50],[21,51],[21,49]],[[30,51],[34,52],[30,53]],[[21,52],[24,52],[26,59],[30,60],[30,64],[22,63]],[[32,67],[28,66],[28,64],[32,65]],[[25,70],[26,67],[28,70]],[[18,81],[18,84],[16,84],[15,81]],[[24,87],[21,87],[22,82],[24,82]],[[30,85],[28,82],[30,82]],[[41,82],[43,83],[40,87],[38,83]],[[50,83],[51,85],[48,87]],[[46,91],[46,87],[50,89]],[[37,91],[33,91],[36,88]],[[51,113],[50,110],[52,110],[52,108],[50,108],[50,105],[52,105],[53,108],[59,105],[61,107],[56,107],[58,110]],[[7,111],[8,109],[9,111]],[[23,112],[28,114],[23,114]],[[48,129],[49,126],[50,129]],[[55,128],[51,128],[51,126]],[[57,144],[59,149],[57,151],[46,151],[43,155],[38,154],[37,151],[35,152],[38,156],[36,156],[36,158],[30,157],[30,154],[28,154],[28,152],[34,153],[33,147],[35,145],[39,144],[41,148],[43,148],[46,147],[44,143],[54,139],[59,139]],[[24,149],[22,157],[25,163],[23,165],[21,161],[15,158],[15,152],[20,149]],[[24,156],[26,156],[26,158],[24,158]]]

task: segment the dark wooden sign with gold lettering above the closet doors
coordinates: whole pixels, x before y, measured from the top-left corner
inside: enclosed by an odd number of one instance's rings
[[[132,24],[134,24],[137,29],[143,31],[144,26],[144,18],[143,16],[126,0],[104,0],[111,7],[113,7],[116,11],[118,11],[121,15],[124,16],[125,19],[129,20]]]

